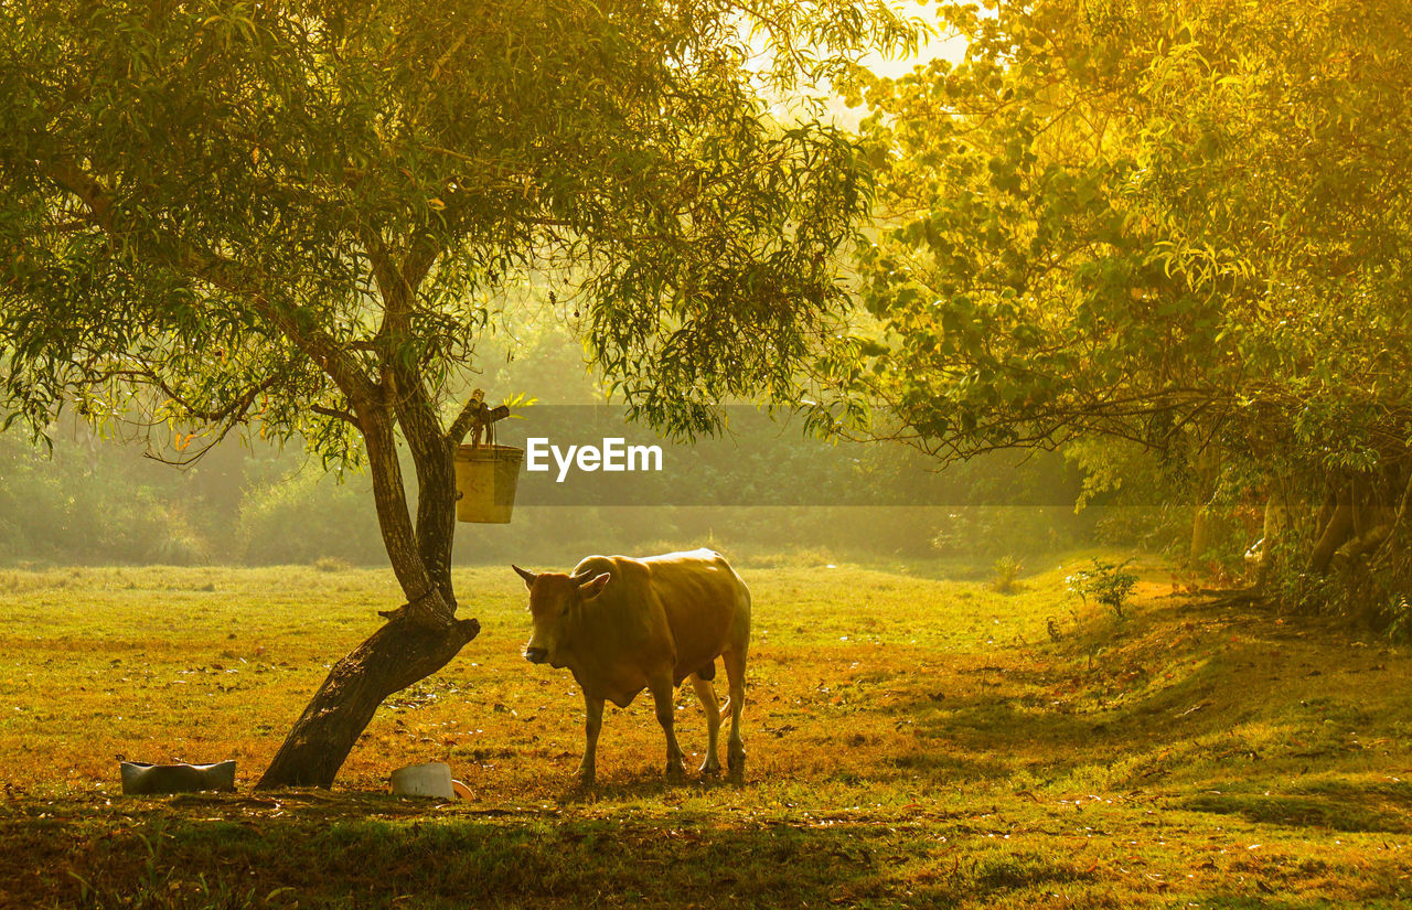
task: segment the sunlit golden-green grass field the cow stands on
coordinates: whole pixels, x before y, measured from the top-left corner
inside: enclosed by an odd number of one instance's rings
[[[744,783],[666,784],[644,697],[609,708],[593,789],[568,672],[520,656],[520,580],[462,571],[481,635],[332,791],[260,794],[388,573],[0,571],[0,906],[1412,906],[1412,657],[1155,566],[1118,621],[1065,595],[1073,567],[1010,595],[746,569]],[[241,791],[123,797],[119,755],[236,758]],[[432,759],[476,799],[384,794]]]

